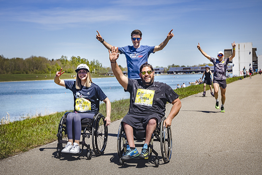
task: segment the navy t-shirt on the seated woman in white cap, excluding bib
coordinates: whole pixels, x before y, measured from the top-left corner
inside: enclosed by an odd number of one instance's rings
[[[75,101],[77,98],[83,97],[91,102],[91,110],[87,111],[88,113],[96,113],[98,112],[98,108],[96,104],[97,100],[104,100],[107,96],[101,90],[101,88],[95,83],[91,83],[90,87],[81,86],[81,89],[75,88],[75,81],[73,80],[64,80],[65,88],[70,89],[74,95],[74,110],[75,110]]]

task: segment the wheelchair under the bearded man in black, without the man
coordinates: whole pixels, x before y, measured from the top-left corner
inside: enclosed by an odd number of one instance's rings
[[[171,127],[163,126],[165,119],[166,119],[166,117],[163,117],[161,119],[161,122],[158,124],[155,131],[153,132],[153,134],[151,136],[151,141],[148,145],[148,147],[149,147],[148,159],[151,157],[152,153],[154,153],[156,155],[156,157],[155,157],[156,167],[159,166],[159,156],[158,156],[158,153],[156,152],[156,150],[153,148],[153,141],[160,141],[161,154],[162,154],[162,158],[164,160],[164,163],[168,163],[170,161],[171,155],[172,155],[172,132],[171,132]],[[143,140],[145,140],[145,137],[146,137],[146,130],[134,129],[134,141],[143,141]],[[124,161],[121,160],[121,157],[126,152],[127,144],[128,144],[128,142],[127,142],[127,139],[126,139],[126,134],[125,134],[125,131],[124,131],[122,124],[120,123],[119,129],[118,129],[118,134],[117,134],[117,154],[119,156],[119,164],[120,165],[124,164]],[[135,142],[136,147],[143,147],[143,145],[144,144],[138,144],[138,143]],[[132,159],[136,159],[136,158],[139,158],[139,157],[134,157]]]

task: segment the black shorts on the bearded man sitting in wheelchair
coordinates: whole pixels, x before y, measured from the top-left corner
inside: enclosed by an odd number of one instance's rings
[[[147,123],[151,118],[156,118],[157,123],[161,121],[161,117],[156,114],[137,114],[137,113],[127,113],[122,119],[123,122],[129,124],[136,129],[146,129]]]

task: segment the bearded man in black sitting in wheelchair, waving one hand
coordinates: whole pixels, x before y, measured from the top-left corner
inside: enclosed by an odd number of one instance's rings
[[[169,127],[172,119],[181,108],[181,101],[172,87],[163,82],[154,81],[155,73],[152,65],[147,62],[142,64],[140,67],[141,79],[130,79],[123,75],[116,62],[119,57],[118,48],[112,47],[108,52],[113,73],[125,91],[130,93],[129,111],[122,120],[129,145],[127,145],[126,153],[121,157],[121,160],[137,156],[147,159],[152,133],[161,118],[165,116],[166,103],[173,104],[168,117],[164,120],[164,125]],[[141,154],[135,147],[133,128],[146,130],[146,139]]]

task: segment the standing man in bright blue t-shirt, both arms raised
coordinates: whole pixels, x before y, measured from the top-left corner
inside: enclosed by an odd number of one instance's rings
[[[172,29],[173,30],[173,29]],[[155,53],[156,51],[162,50],[168,43],[168,41],[174,36],[172,30],[168,33],[166,39],[156,46],[140,45],[142,40],[142,32],[138,29],[131,32],[131,41],[133,45],[127,45],[118,48],[118,53],[124,53],[126,56],[126,63],[128,69],[128,77],[130,79],[140,79],[139,68],[140,66],[148,62],[148,57],[150,53]],[[97,40],[102,42],[102,44],[109,50],[113,47],[111,44],[107,43],[100,33],[97,31]]]

